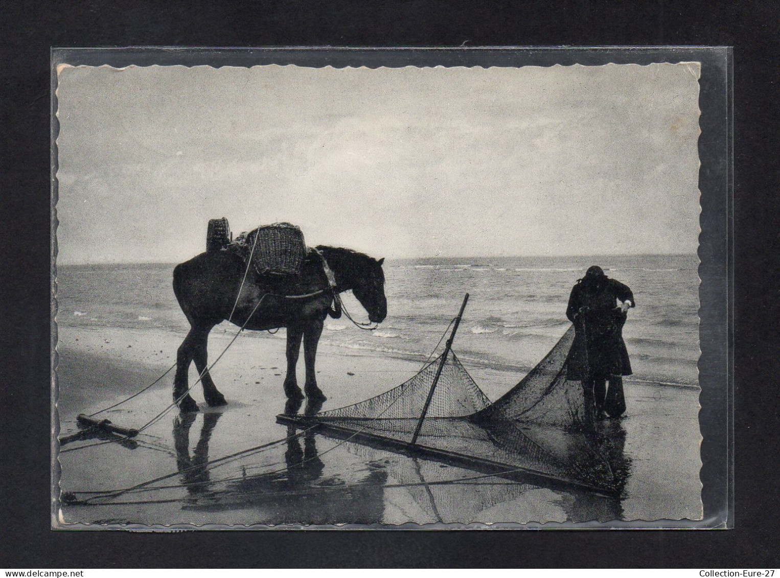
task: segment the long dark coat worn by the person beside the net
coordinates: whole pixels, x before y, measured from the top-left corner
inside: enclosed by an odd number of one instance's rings
[[[567,379],[605,379],[632,373],[622,336],[628,316],[617,306],[617,300],[630,300],[631,307],[636,305],[631,289],[615,279],[586,278],[574,285],[566,307],[566,317],[576,330]]]

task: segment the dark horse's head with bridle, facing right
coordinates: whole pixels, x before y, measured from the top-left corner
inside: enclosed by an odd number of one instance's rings
[[[352,289],[372,323],[385,321],[388,300],[385,297],[384,258],[374,259],[350,249],[317,246],[333,269],[336,283],[342,291]]]

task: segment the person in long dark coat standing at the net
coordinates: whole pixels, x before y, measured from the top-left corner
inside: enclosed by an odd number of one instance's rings
[[[567,378],[582,381],[588,411],[596,419],[620,417],[626,411],[622,376],[632,372],[622,328],[629,307],[635,306],[631,289],[608,278],[597,265],[577,280],[569,296],[566,317],[576,337]]]

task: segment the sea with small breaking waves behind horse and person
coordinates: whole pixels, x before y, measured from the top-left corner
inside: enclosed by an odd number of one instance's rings
[[[346,317],[328,317],[322,341],[378,356],[424,360],[441,341],[470,294],[453,349],[466,367],[514,371],[522,377],[561,338],[569,321],[569,292],[598,264],[633,289],[623,336],[636,381],[697,388],[699,358],[698,257],[460,257],[386,260],[388,316],[374,331]],[[61,265],[58,313],[66,326],[154,328],[186,333],[189,324],[172,290],[175,264]],[[367,314],[351,295],[346,309]],[[214,331],[231,333],[223,322]],[[283,339],[284,330],[246,332],[246,339]]]

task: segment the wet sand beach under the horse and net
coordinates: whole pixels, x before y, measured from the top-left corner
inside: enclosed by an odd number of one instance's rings
[[[233,334],[231,328],[212,334],[210,360]],[[158,328],[60,326],[59,435],[78,431],[78,413],[110,406],[158,378],[174,362],[183,336]],[[180,414],[174,408],[143,431],[135,444],[96,445],[101,439],[87,439],[64,445],[60,487],[66,493],[115,491],[168,477],[154,484],[154,490],[93,500],[112,503],[63,505],[60,527],[544,523],[701,516],[697,389],[626,381],[627,417],[604,426],[622,441],[628,463],[621,498],[499,477],[437,484],[480,473],[322,434],[289,437],[294,429],[275,420],[285,409],[284,349],[281,334],[267,339],[240,336],[212,370],[227,406],[208,408],[197,385],[193,397],[200,413]],[[328,395],[324,409],[385,392],[410,378],[420,365],[419,360],[321,345],[317,379]],[[474,363],[467,369],[491,399],[522,378]],[[302,382],[303,359],[298,374]],[[172,379],[173,372],[101,417],[139,427],[172,401]],[[192,367],[190,383],[194,379]],[[212,465],[215,459],[284,438],[288,439]]]

